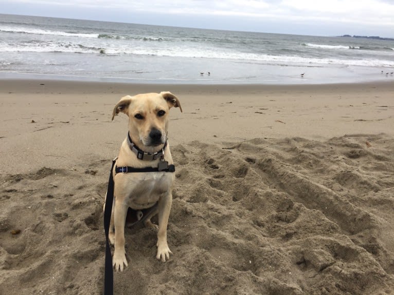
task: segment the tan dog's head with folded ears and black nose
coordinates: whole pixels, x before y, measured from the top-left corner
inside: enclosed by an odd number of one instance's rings
[[[157,151],[167,140],[170,108],[181,103],[171,92],[146,93],[123,96],[114,107],[112,120],[117,113],[129,116],[129,132],[133,142],[146,151]]]

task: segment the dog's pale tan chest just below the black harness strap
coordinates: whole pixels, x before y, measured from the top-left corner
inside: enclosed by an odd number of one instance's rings
[[[124,185],[120,194],[124,202],[133,209],[144,209],[153,206],[164,193],[167,193],[173,182],[173,173],[146,172],[124,174]]]

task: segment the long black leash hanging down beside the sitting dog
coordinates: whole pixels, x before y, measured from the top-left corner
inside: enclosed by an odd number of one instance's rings
[[[104,295],[114,294],[114,268],[112,266],[112,254],[110,240],[108,238],[110,232],[110,222],[112,213],[112,203],[114,201],[114,178],[112,171],[116,163],[115,158],[112,161],[110,179],[108,181],[108,189],[106,191],[105,207],[104,207],[104,232],[105,232],[105,269],[104,269]]]

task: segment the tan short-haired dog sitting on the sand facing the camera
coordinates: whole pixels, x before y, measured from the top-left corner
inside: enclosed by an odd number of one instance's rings
[[[129,169],[158,168],[162,164],[165,167],[173,164],[167,143],[168,113],[171,107],[178,107],[182,111],[175,95],[161,92],[124,96],[114,108],[112,120],[119,112],[129,116],[129,136],[120,147],[113,170],[115,189],[109,238],[115,245],[115,270],[122,271],[124,265],[128,266],[124,250],[124,224],[129,207],[142,210],[158,203],[156,209],[146,217],[145,225],[158,229],[156,258],[165,262],[172,253],[167,245],[167,224],[175,178],[173,171],[122,173],[126,172],[123,166],[129,166]],[[157,213],[158,226],[150,221]]]

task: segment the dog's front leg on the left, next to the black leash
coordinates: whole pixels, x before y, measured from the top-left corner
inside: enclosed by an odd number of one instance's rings
[[[123,271],[123,265],[128,266],[126,260],[126,251],[124,250],[124,223],[126,222],[127,210],[129,207],[123,202],[115,201],[115,251],[112,259],[112,265],[115,270]]]

